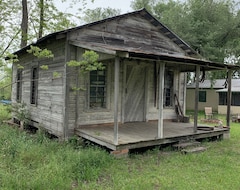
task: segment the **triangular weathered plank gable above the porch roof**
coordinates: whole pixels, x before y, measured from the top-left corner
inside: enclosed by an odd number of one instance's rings
[[[184,51],[141,15],[106,21],[70,34],[83,46],[145,53],[181,54]]]

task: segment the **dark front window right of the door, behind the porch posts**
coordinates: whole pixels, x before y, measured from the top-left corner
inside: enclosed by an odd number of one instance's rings
[[[164,80],[164,106],[173,105],[173,72],[166,70]]]

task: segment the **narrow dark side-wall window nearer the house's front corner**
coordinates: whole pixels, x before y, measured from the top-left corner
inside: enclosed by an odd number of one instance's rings
[[[38,88],[38,68],[32,68],[31,72],[31,94],[30,94],[30,103],[37,104],[37,88]]]

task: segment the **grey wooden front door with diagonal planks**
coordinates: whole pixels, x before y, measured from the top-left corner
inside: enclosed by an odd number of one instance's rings
[[[126,66],[124,122],[145,121],[144,65]]]

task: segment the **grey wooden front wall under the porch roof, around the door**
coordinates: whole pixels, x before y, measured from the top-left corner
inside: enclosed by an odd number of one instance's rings
[[[83,52],[83,50],[79,50],[78,52]],[[100,54],[101,55],[101,54]],[[81,56],[80,56],[81,57]],[[82,88],[85,90],[78,91],[77,98],[77,125],[91,125],[91,124],[101,124],[101,123],[113,123],[114,120],[114,60],[106,60],[104,61],[107,65],[107,108],[106,109],[91,109],[88,108],[88,85],[89,78],[88,74],[80,74],[78,82],[78,88]],[[127,67],[127,65],[129,67]],[[131,69],[130,65],[136,67],[140,71],[139,75],[130,75]],[[141,70],[141,68],[144,68]],[[155,97],[155,86],[154,86],[154,62],[151,61],[139,61],[139,60],[128,60],[122,59],[120,65],[120,92],[119,92],[119,122],[128,122],[128,121],[148,121],[148,120],[157,120],[158,119],[158,108],[157,104],[154,104]],[[144,76],[142,76],[144,75]],[[146,80],[144,79],[146,76]],[[129,77],[134,77],[137,83],[143,85],[139,87],[137,84],[134,86],[137,88],[134,90],[133,87],[131,89],[127,89],[127,82],[130,80]],[[181,85],[184,82],[184,75],[181,75],[178,71],[174,77],[174,91],[178,91],[178,88],[181,88]],[[126,91],[127,93],[126,95]],[[179,100],[181,105],[184,104],[184,96],[183,91],[179,90]],[[131,93],[132,92],[132,93]],[[143,94],[143,97],[140,99],[136,99],[137,94]],[[130,94],[131,93],[131,94]],[[129,98],[130,101],[129,101]],[[134,100],[134,101],[133,101]],[[174,103],[173,103],[174,105]],[[137,107],[136,107],[137,106]],[[142,106],[143,108],[139,110],[138,106]],[[136,109],[135,109],[136,108]],[[141,114],[141,119],[138,118],[137,114]],[[74,113],[71,113],[74,115]],[[176,113],[174,106],[164,108],[164,119],[175,119]]]

